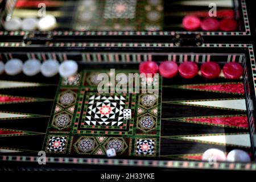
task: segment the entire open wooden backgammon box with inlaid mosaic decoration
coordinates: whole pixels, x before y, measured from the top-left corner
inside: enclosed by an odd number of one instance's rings
[[[1,169],[256,170],[251,2],[212,2],[0,1],[0,60],[5,68],[13,59],[42,64],[74,60],[79,65],[67,78],[3,71]],[[217,17],[209,18],[214,5]],[[51,17],[43,19],[44,13]],[[34,20],[38,24],[32,27]],[[117,82],[109,84],[114,92],[98,93],[100,73],[136,74],[146,61],[193,62],[199,72],[189,79],[180,74],[142,79],[138,93],[120,92],[125,89],[118,90]],[[205,78],[200,68],[208,62],[221,69],[238,63],[242,76],[230,79],[222,71]],[[157,86],[158,92],[143,93],[144,85]],[[129,119],[123,117],[124,109],[131,110]],[[106,154],[111,148],[116,152],[112,158]],[[210,148],[225,157],[242,150],[250,162],[205,161],[203,154]]]

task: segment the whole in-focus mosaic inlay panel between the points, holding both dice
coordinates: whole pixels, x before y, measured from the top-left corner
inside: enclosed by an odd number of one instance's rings
[[[156,137],[160,137],[158,103],[161,97],[144,93],[141,85],[139,93],[117,92],[120,88],[99,93],[97,77],[102,72],[116,76],[123,70],[81,71],[79,77],[62,78],[44,150],[69,155],[106,155],[106,151],[113,148],[121,156],[159,155]],[[128,73],[137,71],[125,71],[124,75]],[[110,90],[113,88],[111,84],[108,86]],[[123,117],[124,109],[131,109],[130,119]],[[140,138],[144,141],[141,141],[141,151],[136,153],[136,141]]]

